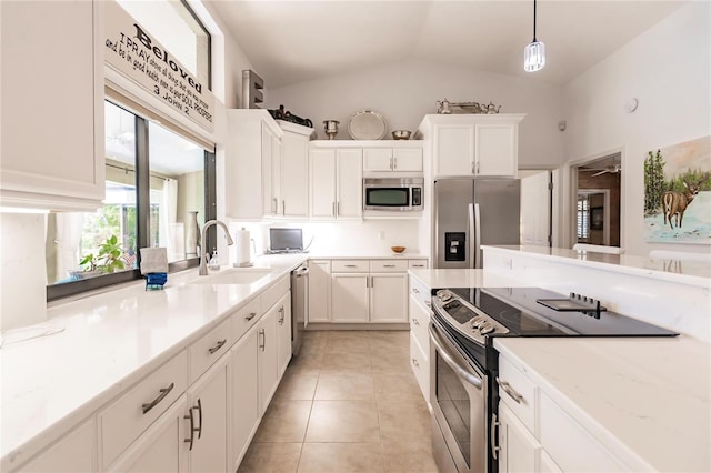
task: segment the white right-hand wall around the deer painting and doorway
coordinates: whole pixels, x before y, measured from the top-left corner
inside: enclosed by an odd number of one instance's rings
[[[642,215],[647,152],[711,133],[710,9],[707,1],[691,2],[563,90],[565,159],[623,151],[621,232],[628,254],[711,252],[710,245],[645,243]],[[631,98],[639,108],[627,113]]]

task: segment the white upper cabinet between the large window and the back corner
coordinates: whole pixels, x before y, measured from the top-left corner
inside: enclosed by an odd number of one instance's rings
[[[227,110],[227,120],[226,215],[254,221],[276,214],[273,168],[279,167],[281,128],[266,110]]]

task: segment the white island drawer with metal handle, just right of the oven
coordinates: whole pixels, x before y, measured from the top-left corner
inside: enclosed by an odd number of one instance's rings
[[[535,433],[535,384],[507,359],[499,358],[499,399]],[[518,402],[515,401],[518,400]]]

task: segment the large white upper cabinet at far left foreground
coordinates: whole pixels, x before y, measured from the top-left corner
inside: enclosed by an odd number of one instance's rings
[[[0,2],[3,207],[68,211],[101,207],[101,3]]]

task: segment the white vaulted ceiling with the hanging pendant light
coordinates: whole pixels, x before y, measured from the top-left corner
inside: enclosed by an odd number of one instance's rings
[[[210,0],[270,89],[407,59],[563,84],[682,0],[540,0],[547,67],[523,71],[533,1]]]

